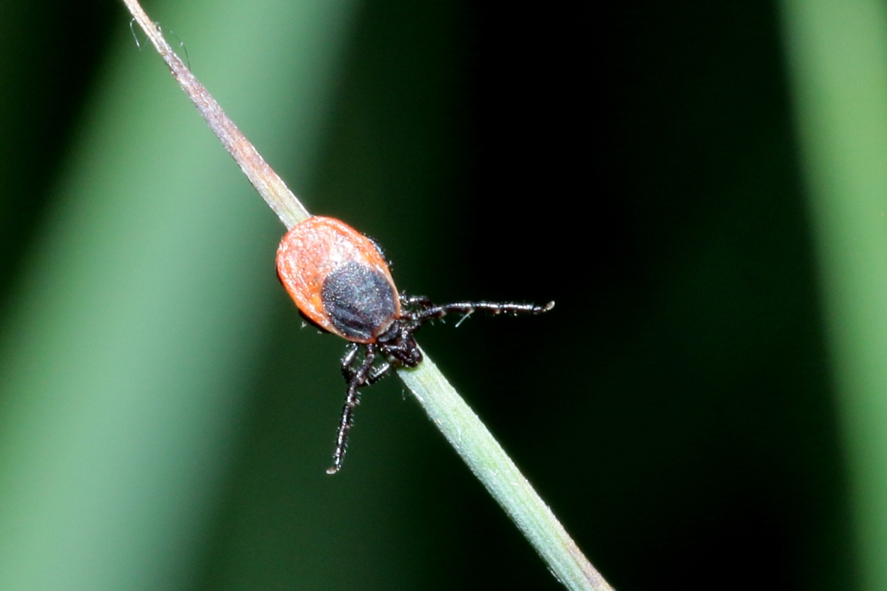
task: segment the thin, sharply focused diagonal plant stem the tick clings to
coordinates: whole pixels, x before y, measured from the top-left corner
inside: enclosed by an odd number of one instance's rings
[[[308,218],[286,183],[265,162],[222,107],[184,65],[163,38],[161,30],[148,18],[137,0],[123,0],[139,27],[169,66],[184,92],[237,161],[255,190],[271,206],[287,228]],[[551,509],[539,497],[511,458],[446,381],[434,362],[425,361],[415,369],[399,369],[404,384],[425,408],[428,416],[450,441],[456,452],[483,482],[499,505],[530,540],[538,553],[565,586],[574,590],[607,591],[610,587],[576,545]]]

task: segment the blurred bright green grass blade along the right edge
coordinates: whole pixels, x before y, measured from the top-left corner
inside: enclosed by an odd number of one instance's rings
[[[782,3],[864,588],[887,588],[887,14]]]

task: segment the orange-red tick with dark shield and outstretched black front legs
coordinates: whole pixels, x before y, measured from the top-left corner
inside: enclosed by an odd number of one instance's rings
[[[348,224],[319,215],[296,224],[280,241],[280,282],[302,316],[320,330],[350,341],[341,358],[348,383],[336,434],[333,466],[341,469],[345,445],[359,402],[358,389],[377,382],[392,367],[414,368],[422,361],[413,333],[432,318],[476,310],[491,314],[540,314],[554,307],[496,302],[438,306],[422,296],[398,293],[381,248]]]

